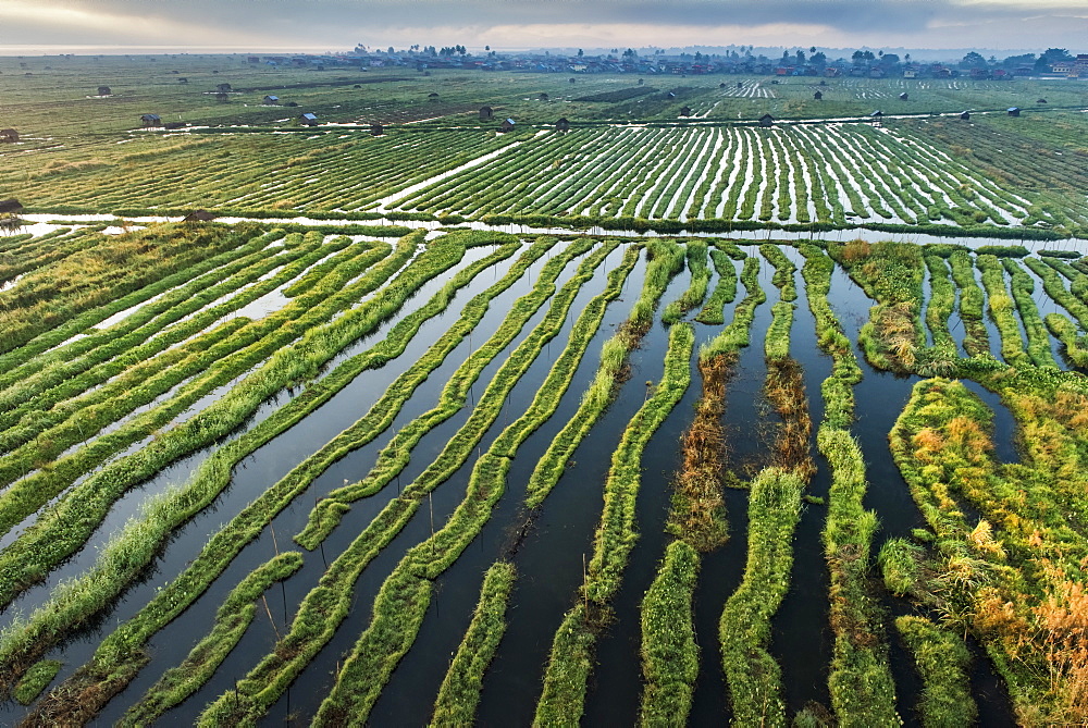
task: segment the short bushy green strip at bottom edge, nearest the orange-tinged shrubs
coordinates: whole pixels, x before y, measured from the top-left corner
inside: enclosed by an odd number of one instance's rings
[[[978,719],[970,695],[970,653],[957,636],[925,617],[895,618],[895,628],[922,678],[918,712],[925,728],[960,728]]]

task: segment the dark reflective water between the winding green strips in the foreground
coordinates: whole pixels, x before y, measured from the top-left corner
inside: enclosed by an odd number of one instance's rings
[[[775,234],[776,237],[780,235]],[[470,251],[471,259],[492,249]],[[790,248],[783,247],[783,250],[800,269],[803,258]],[[557,251],[558,248],[551,255]],[[486,432],[479,452],[485,451],[503,428],[529,407],[552,362],[566,345],[573,320],[589,300],[604,288],[604,272],[618,264],[622,252],[622,247],[613,251],[608,260],[597,269],[598,274],[581,287],[562,331],[545,345],[537,360],[515,386],[503,412]],[[754,247],[749,247],[747,252],[758,256]],[[66,677],[85,663],[109,630],[118,622],[131,618],[153,596],[156,590],[180,573],[196,557],[209,534],[226,523],[305,457],[362,417],[386,386],[457,319],[465,303],[492,285],[516,259],[517,256],[511,257],[494,267],[494,270],[489,269],[479,274],[457,294],[443,314],[423,324],[401,357],[382,369],[368,371],[356,378],[299,425],[246,458],[235,469],[228,491],[211,508],[175,534],[147,579],[131,587],[101,625],[52,651],[50,656],[62,658],[65,663],[60,677]],[[467,256],[461,266],[468,264],[469,260],[470,257]],[[579,262],[580,259],[566,267],[557,286],[569,280]],[[766,260],[761,260],[761,263],[759,283],[767,293],[768,300],[756,310],[750,332],[751,345],[742,349],[735,374],[727,386],[724,416],[730,465],[741,477],[750,477],[766,465],[768,433],[775,421],[775,416],[763,399],[762,390],[766,377],[764,338],[771,320],[770,306],[778,300],[779,292],[770,283],[772,267]],[[138,701],[163,670],[184,658],[196,641],[211,628],[215,609],[231,588],[246,573],[277,552],[302,551],[290,538],[305,526],[316,499],[346,481],[356,481],[366,476],[393,433],[434,406],[450,374],[471,350],[482,345],[498,328],[514,301],[529,292],[543,264],[544,261],[534,263],[530,273],[491,303],[487,313],[471,337],[467,337],[452,351],[420,385],[388,430],[322,473],[305,494],[273,519],[271,528],[265,528],[258,539],[242,550],[223,578],[218,579],[193,608],[156,636],[149,644],[150,665],[107,706],[100,716],[103,725],[120,718],[126,706]],[[734,266],[739,273],[740,264]],[[388,686],[371,713],[374,725],[423,725],[429,720],[438,684],[475,607],[483,572],[504,556],[509,557],[517,567],[518,579],[507,610],[508,630],[485,675],[478,721],[484,726],[531,724],[555,630],[564,614],[573,605],[582,579],[583,564],[592,556],[593,534],[601,515],[602,492],[610,465],[610,454],[631,417],[642,406],[646,397],[646,382],[658,382],[662,378],[668,342],[666,328],[655,323],[642,345],[631,354],[630,378],[619,387],[616,400],[577,449],[553,493],[532,514],[527,514],[522,506],[526,483],[552,439],[577,410],[582,393],[596,371],[601,346],[627,318],[631,305],[641,292],[644,275],[645,256],[631,272],[619,299],[608,306],[604,321],[590,342],[556,414],[521,445],[511,465],[506,493],[498,501],[481,535],[436,579],[431,606],[419,637],[394,670]],[[448,276],[443,279],[447,280]],[[687,288],[689,281],[687,272],[677,275],[663,296],[660,306],[676,299]],[[799,298],[795,301],[790,351],[804,372],[805,391],[814,423],[812,448],[817,465],[807,492],[826,497],[831,473],[827,462],[816,452],[815,427],[818,427],[824,412],[820,383],[830,373],[831,362],[816,345],[815,325],[800,273],[796,281]],[[716,282],[715,275],[708,292],[713,291]],[[376,343],[396,321],[412,310],[413,305],[422,305],[443,283],[444,280],[437,280],[424,286],[413,298],[413,303],[407,304],[400,312],[383,323],[378,332],[353,345],[337,361]],[[926,285],[928,288],[928,274]],[[1041,285],[1039,288],[1041,291]],[[743,285],[738,283],[737,300],[741,300],[744,295]],[[1044,308],[1046,299],[1039,296],[1037,292],[1037,301],[1043,307],[1040,313],[1053,310]],[[873,301],[839,268],[832,275],[830,303],[846,335],[855,345],[864,374],[863,381],[855,387],[856,423],[853,434],[861,442],[867,467],[869,486],[864,504],[876,510],[880,519],[880,528],[874,539],[875,554],[887,538],[910,535],[911,529],[924,527],[887,444],[888,432],[918,379],[895,378],[878,372],[864,362],[856,348],[856,341]],[[727,305],[727,323],[732,320],[735,306],[735,301]],[[289,628],[299,603],[317,584],[325,566],[347,548],[380,509],[396,496],[398,490],[411,482],[438,454],[448,439],[465,423],[472,402],[483,393],[498,367],[546,316],[547,310],[548,306],[543,306],[522,328],[516,340],[484,369],[472,387],[470,406],[423,436],[398,479],[391,482],[382,493],[354,504],[321,548],[302,552],[302,568],[282,584],[273,584],[264,600],[258,601],[254,624],[212,679],[194,696],[170,712],[164,721],[178,725],[194,723],[210,701],[234,690],[235,680],[244,677],[273,649],[277,638]],[[690,321],[696,312],[697,309],[685,318]],[[698,323],[694,325],[697,355],[697,345],[716,335],[720,328]],[[950,328],[953,335],[960,330],[956,338],[961,340],[962,322],[959,313],[953,313]],[[987,328],[991,348],[1000,354],[1000,338],[988,319]],[[691,367],[692,381],[687,393],[652,437],[643,457],[643,480],[636,504],[640,538],[631,554],[623,585],[613,604],[616,619],[597,642],[597,664],[588,686],[584,725],[629,725],[636,720],[642,682],[639,609],[643,593],[652,582],[665,545],[671,538],[664,532],[671,479],[680,462],[680,437],[691,422],[702,384],[694,357]],[[1006,462],[1016,461],[1015,423],[1007,408],[997,395],[970,383],[968,386],[994,411],[993,439],[998,457]],[[267,403],[247,427],[260,422],[293,394],[283,393],[277,402]],[[88,568],[108,535],[137,511],[139,503],[149,494],[184,482],[207,455],[207,452],[197,453],[174,464],[159,477],[125,496],[111,510],[107,522],[92,536],[88,547],[78,553],[69,565],[58,569],[45,584],[21,597],[16,602],[17,607],[28,612],[39,605],[61,579]],[[475,459],[474,453],[447,482],[438,486],[433,497],[422,504],[403,531],[362,571],[354,590],[354,602],[347,619],[330,643],[302,670],[290,690],[273,706],[265,723],[289,723],[298,716],[311,716],[317,712],[320,701],[327,694],[343,666],[345,655],[367,628],[371,618],[370,605],[383,581],[407,548],[430,535],[432,507],[434,528],[438,529],[446,522],[463,496]],[[695,592],[694,625],[701,651],[701,670],[695,684],[691,725],[718,724],[730,717],[720,666],[718,620],[726,600],[743,576],[747,551],[747,492],[727,490],[726,502],[729,541],[719,550],[704,555]],[[827,622],[828,575],[820,539],[826,515],[826,506],[805,506],[794,536],[790,590],[771,621],[770,651],[782,666],[784,698],[790,714],[801,710],[809,701],[829,705],[827,675],[832,636]],[[527,518],[531,519],[532,526],[528,529],[528,535],[519,540],[518,534]],[[874,589],[889,609],[889,616],[905,608],[888,596],[876,581]],[[10,610],[9,614],[13,612]],[[919,690],[918,680],[910,655],[895,643],[894,630],[890,624],[889,641],[900,714],[908,725],[916,725],[914,708]],[[973,688],[979,696],[982,725],[1010,724],[1012,715],[1007,699],[985,655],[977,647],[975,653]],[[24,714],[23,708],[8,706],[4,710],[5,713],[0,718],[4,723],[15,723]]]

